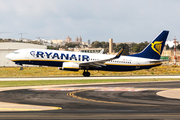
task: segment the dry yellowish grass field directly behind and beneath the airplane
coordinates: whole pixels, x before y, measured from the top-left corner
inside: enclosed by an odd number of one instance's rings
[[[63,77],[82,76],[83,70],[78,72],[58,70],[57,67],[19,67],[0,68],[0,77]],[[180,66],[158,66],[149,70],[136,70],[129,72],[90,71],[91,76],[134,76],[134,75],[180,75]]]

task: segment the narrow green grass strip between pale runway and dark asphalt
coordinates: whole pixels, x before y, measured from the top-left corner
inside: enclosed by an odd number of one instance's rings
[[[17,86],[43,86],[43,85],[64,85],[64,84],[88,84],[88,83],[116,83],[116,82],[154,82],[154,81],[175,81],[180,79],[113,79],[113,80],[29,80],[29,81],[0,81],[0,87]]]

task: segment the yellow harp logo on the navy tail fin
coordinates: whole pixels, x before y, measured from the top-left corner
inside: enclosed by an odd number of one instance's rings
[[[162,42],[163,41],[155,41],[154,43],[151,43],[151,48],[159,55],[161,55]]]

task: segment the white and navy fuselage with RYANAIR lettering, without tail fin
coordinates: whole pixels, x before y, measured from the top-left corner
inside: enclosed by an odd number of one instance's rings
[[[58,51],[47,49],[20,49],[6,56],[16,64],[32,64],[44,66],[62,67],[64,62],[88,63],[94,61],[102,61],[114,57],[114,55],[82,53],[71,51]],[[148,69],[161,63],[153,63],[154,59],[120,56],[118,59],[110,60],[101,67],[89,67],[89,69],[107,70],[107,71],[131,71],[137,69]],[[83,69],[83,68],[79,68]]]

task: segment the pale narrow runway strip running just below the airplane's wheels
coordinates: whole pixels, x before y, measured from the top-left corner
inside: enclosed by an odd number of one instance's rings
[[[43,77],[43,78],[0,78],[0,81],[28,81],[28,80],[93,80],[93,79],[159,79],[159,78],[166,78],[166,79],[180,79],[178,75],[167,75],[167,76],[93,76],[93,77]]]

